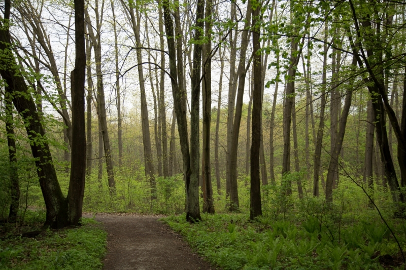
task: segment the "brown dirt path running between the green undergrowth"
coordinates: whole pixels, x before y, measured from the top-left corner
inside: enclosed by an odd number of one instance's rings
[[[153,216],[96,215],[107,230],[106,270],[213,269]]]

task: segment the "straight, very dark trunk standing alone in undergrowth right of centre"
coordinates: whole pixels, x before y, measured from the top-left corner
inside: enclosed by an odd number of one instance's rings
[[[252,9],[252,25],[256,26],[260,14],[260,7]],[[254,51],[253,58],[253,80],[254,87],[252,101],[252,143],[251,143],[251,189],[250,189],[250,219],[254,220],[258,216],[262,216],[261,205],[261,189],[259,178],[259,148],[261,144],[261,113],[262,113],[262,70],[261,56],[257,54],[261,49],[259,43],[259,27],[252,31],[252,44]]]

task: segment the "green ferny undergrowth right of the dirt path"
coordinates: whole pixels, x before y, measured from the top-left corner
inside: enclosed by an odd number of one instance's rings
[[[379,220],[359,220],[337,235],[315,217],[250,222],[248,214],[204,214],[202,219],[196,224],[186,222],[185,215],[162,220],[224,270],[403,268],[397,244]]]

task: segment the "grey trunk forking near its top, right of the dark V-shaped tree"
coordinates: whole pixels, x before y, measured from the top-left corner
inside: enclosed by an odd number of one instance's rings
[[[96,3],[95,10],[98,11],[97,1],[95,3]],[[101,20],[100,20],[100,18],[99,18],[100,15],[98,14],[98,12],[96,12],[97,34],[95,35],[93,32],[93,27],[91,25],[89,14],[86,9],[85,9],[85,16],[86,16],[86,21],[87,21],[87,29],[88,29],[89,37],[91,38],[91,43],[93,44],[94,60],[96,63],[97,107],[98,107],[98,116],[99,116],[99,121],[100,121],[101,135],[103,135],[103,145],[104,145],[106,167],[107,167],[107,178],[109,181],[109,187],[111,188],[111,192],[115,192],[116,183],[114,181],[113,160],[111,157],[109,131],[107,129],[106,101],[105,101],[105,93],[104,93],[103,74],[101,73],[100,28],[101,28],[101,21],[103,21],[103,18],[101,18]],[[103,14],[101,14],[101,17],[103,17]]]

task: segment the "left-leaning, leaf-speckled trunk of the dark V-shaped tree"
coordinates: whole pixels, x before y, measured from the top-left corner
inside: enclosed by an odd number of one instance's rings
[[[5,1],[4,18],[7,22],[10,19],[10,0]],[[0,50],[8,52],[7,57],[0,58],[0,75],[6,81],[6,93],[10,95],[14,106],[25,124],[25,130],[29,135],[32,156],[36,159],[37,174],[40,181],[45,207],[47,209],[45,226],[61,228],[69,222],[67,219],[68,206],[62,195],[55,168],[50,155],[48,142],[44,140],[45,131],[42,126],[39,112],[35,106],[28,87],[16,70],[17,64],[10,48],[10,32],[0,22]],[[7,61],[5,61],[7,59]],[[12,61],[12,63],[10,63]]]

